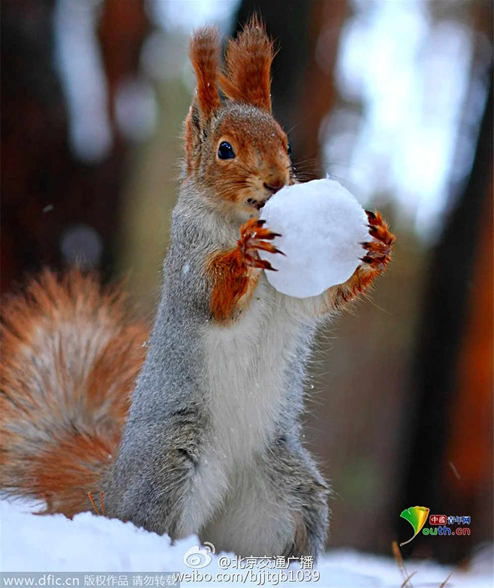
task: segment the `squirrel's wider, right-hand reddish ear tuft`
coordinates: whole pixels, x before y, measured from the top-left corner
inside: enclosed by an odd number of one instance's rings
[[[273,43],[261,19],[253,15],[243,31],[226,46],[225,75],[219,76],[227,98],[271,112]]]

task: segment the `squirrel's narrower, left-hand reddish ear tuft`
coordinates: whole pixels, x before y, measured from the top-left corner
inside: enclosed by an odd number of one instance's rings
[[[221,105],[218,92],[220,68],[219,31],[215,26],[203,26],[194,31],[189,46],[189,56],[197,81],[197,105],[201,122]]]

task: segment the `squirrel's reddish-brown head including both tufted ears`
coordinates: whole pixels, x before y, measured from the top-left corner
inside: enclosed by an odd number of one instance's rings
[[[226,47],[221,70],[218,30],[191,39],[197,80],[186,119],[186,176],[207,186],[223,207],[258,215],[293,183],[288,138],[271,115],[273,45],[254,16]]]

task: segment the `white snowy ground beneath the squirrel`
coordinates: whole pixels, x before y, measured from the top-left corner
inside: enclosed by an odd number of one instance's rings
[[[74,520],[62,515],[35,516],[25,503],[0,502],[0,570],[7,572],[141,572],[161,574],[167,572],[192,574],[195,570],[183,563],[184,554],[198,544],[189,537],[171,545],[168,537],[137,529],[131,523],[109,520],[91,513],[83,513]],[[211,563],[196,573],[211,574],[209,582],[181,582],[181,586],[319,586],[319,588],[364,586],[401,586],[403,576],[392,558],[358,553],[352,550],[333,550],[318,563],[319,580],[314,570],[305,570],[312,580],[297,581],[302,570],[292,564],[289,570],[225,569],[225,557],[232,554],[212,555]],[[223,558],[223,559],[222,559]],[[483,553],[468,572],[432,562],[405,562],[409,574],[416,572],[410,582],[414,588],[437,587],[453,571],[445,586],[483,588],[493,586],[492,548]],[[223,569],[222,567],[223,566]],[[228,581],[228,574],[243,573],[241,581]],[[272,575],[271,581],[267,572]],[[280,581],[281,575],[291,573],[292,582]],[[257,575],[253,575],[257,574]],[[5,575],[1,587],[5,584]],[[48,577],[48,576],[47,576]],[[89,577],[89,576],[88,576]],[[86,577],[85,577],[86,578]],[[261,578],[261,579],[259,579]],[[220,582],[219,579],[222,581]],[[86,582],[82,580],[81,586]],[[86,584],[87,585],[87,584]],[[97,585],[97,584],[96,584]],[[115,586],[118,584],[114,584]],[[122,585],[122,584],[121,584]],[[144,584],[145,585],[145,584]],[[156,586],[156,584],[154,584]],[[165,584],[162,584],[166,586]],[[129,588],[132,582],[129,583]],[[410,584],[408,584],[410,586]]]

